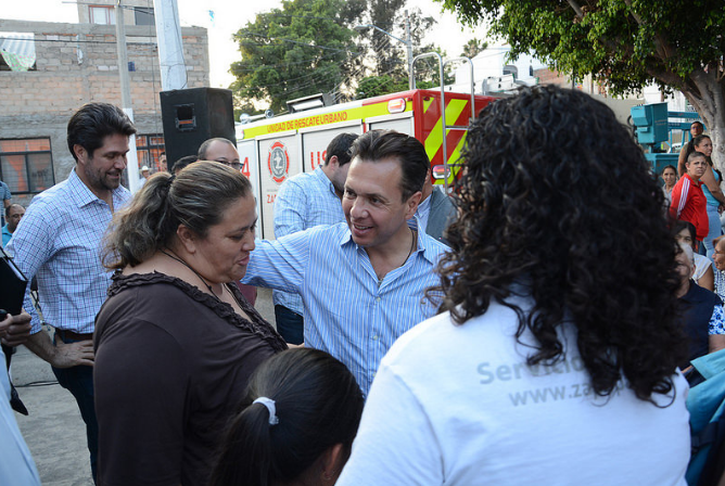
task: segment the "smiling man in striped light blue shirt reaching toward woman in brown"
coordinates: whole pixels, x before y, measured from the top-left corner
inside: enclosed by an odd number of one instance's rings
[[[424,294],[447,246],[407,222],[430,167],[418,140],[371,130],[352,156],[347,222],[258,242],[244,281],[302,295],[305,346],[344,362],[367,394],[395,340],[435,314]]]

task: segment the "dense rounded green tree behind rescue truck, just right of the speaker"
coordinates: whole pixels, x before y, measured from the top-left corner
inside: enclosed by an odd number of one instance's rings
[[[358,68],[356,33],[365,0],[283,0],[260,13],[234,39],[242,60],[231,65],[238,105],[264,100],[279,113],[285,102],[333,92]]]

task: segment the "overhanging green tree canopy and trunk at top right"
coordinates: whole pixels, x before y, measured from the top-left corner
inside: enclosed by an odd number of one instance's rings
[[[725,3],[663,0],[436,0],[470,26],[485,21],[516,57],[590,74],[615,93],[656,81],[702,117],[725,169]]]

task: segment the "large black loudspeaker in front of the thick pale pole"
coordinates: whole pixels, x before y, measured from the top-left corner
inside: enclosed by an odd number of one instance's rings
[[[204,141],[225,138],[237,145],[231,90],[178,89],[161,92],[161,114],[168,169],[186,155],[196,155]]]

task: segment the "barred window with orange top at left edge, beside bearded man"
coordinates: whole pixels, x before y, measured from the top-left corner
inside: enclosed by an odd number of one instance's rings
[[[0,140],[0,180],[13,194],[37,194],[52,187],[50,139]]]

